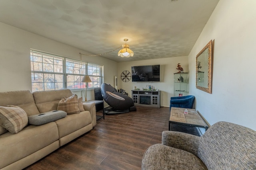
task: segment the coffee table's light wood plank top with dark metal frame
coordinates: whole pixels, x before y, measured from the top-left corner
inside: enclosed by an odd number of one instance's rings
[[[169,120],[169,131],[171,125],[182,125],[184,127],[202,127],[208,129],[208,125],[196,109],[188,109],[188,114],[184,114],[185,108],[172,107]]]

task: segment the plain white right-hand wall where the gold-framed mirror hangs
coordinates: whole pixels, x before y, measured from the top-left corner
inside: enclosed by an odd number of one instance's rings
[[[220,0],[188,56],[190,94],[212,125],[229,121],[256,130],[256,1]],[[196,89],[196,55],[214,40],[212,94]]]

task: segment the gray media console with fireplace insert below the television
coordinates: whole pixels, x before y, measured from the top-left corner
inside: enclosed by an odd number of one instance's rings
[[[132,90],[132,99],[135,106],[160,108],[160,91]]]

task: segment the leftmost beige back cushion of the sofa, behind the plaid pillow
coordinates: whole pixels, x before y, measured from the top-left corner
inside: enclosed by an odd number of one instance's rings
[[[33,94],[29,90],[0,92],[0,106],[7,105],[14,105],[22,108],[28,116],[39,114],[34,102]]]

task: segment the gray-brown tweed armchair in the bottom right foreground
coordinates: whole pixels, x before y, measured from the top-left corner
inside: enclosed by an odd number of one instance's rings
[[[202,137],[163,131],[149,147],[142,170],[256,170],[256,131],[217,122]]]

